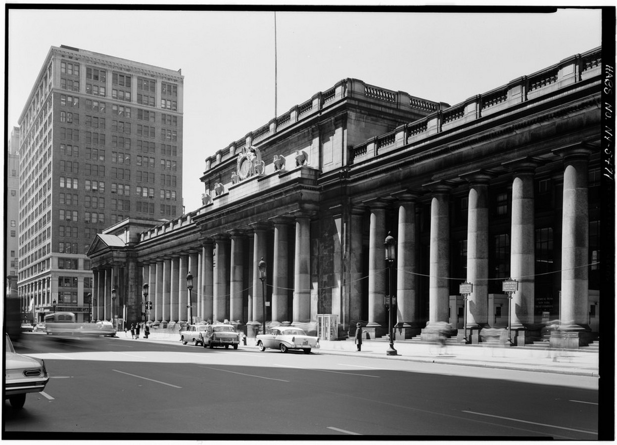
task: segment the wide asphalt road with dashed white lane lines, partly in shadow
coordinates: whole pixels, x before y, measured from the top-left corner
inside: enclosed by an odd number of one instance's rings
[[[22,337],[17,351],[43,358],[51,380],[22,410],[5,402],[3,439],[598,438],[591,378],[251,346]]]

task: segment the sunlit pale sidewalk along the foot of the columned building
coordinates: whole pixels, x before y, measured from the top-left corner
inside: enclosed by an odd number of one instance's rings
[[[157,332],[151,330],[149,338],[139,340],[172,341],[181,345],[177,332]],[[126,339],[123,332],[117,338]],[[130,340],[130,333],[128,335]],[[241,349],[257,349],[254,338],[246,338],[247,345]],[[396,356],[386,354],[389,349],[387,340],[364,340],[362,351],[358,352],[353,339],[343,341],[320,340],[320,348],[313,349],[315,354],[337,354],[354,357],[371,357],[387,360],[403,360],[424,363],[440,363],[461,366],[478,366],[494,369],[512,369],[531,372],[549,372],[553,374],[583,375],[599,377],[598,353],[595,351],[578,351],[575,349],[540,349],[531,347],[510,347],[485,345],[452,345],[444,349],[429,343],[415,341],[395,341]]]

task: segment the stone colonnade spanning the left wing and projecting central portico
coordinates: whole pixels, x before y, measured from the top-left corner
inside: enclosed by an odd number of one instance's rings
[[[199,247],[176,251],[141,263],[143,283],[149,285],[152,311],[147,319],[159,322],[244,320],[243,298],[247,293],[246,322],[263,321],[263,290],[259,261],[273,255],[268,265],[271,283],[271,321],[310,321],[310,213],[271,218],[249,224],[250,229],[231,230],[201,239]],[[288,234],[295,230],[294,277],[288,279]],[[273,235],[273,245],[268,239]],[[248,243],[244,242],[249,240]],[[244,249],[249,249],[245,252]],[[244,264],[251,258],[251,264]],[[247,272],[248,271],[248,272]],[[193,276],[189,297],[186,276]],[[244,274],[249,276],[245,277]],[[109,280],[114,272],[105,272]],[[95,279],[96,282],[96,279]],[[102,282],[102,279],[99,279]],[[107,283],[107,282],[106,282]],[[248,289],[244,287],[248,283]],[[268,285],[270,287],[270,285]],[[288,313],[288,290],[293,288],[292,313]],[[101,287],[101,289],[103,289]],[[105,290],[103,290],[105,292]],[[268,293],[268,292],[267,292]],[[190,309],[189,309],[189,306]]]

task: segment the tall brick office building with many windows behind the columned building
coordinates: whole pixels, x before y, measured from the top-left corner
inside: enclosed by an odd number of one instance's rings
[[[89,320],[85,253],[102,229],[182,213],[183,80],[181,70],[49,50],[19,118],[18,290],[35,320]]]

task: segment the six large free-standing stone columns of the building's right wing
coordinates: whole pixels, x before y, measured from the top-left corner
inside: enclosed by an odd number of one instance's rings
[[[553,150],[563,157],[563,227],[561,240],[561,320],[562,330],[585,330],[587,325],[588,279],[587,250],[589,247],[589,212],[587,200],[588,158],[591,150],[582,144]],[[508,161],[502,166],[512,176],[510,277],[518,281],[518,291],[511,301],[511,327],[524,331],[534,323],[534,170],[540,161],[530,157]],[[466,308],[467,327],[473,332],[489,321],[487,307],[489,277],[489,179],[492,174],[477,170],[461,174],[456,179],[468,182],[468,224],[466,281],[473,284]],[[455,178],[453,178],[455,179]],[[449,198],[453,182],[436,181],[423,185],[431,193],[431,226],[429,242],[429,319],[431,325],[449,322],[450,277],[450,209]],[[415,202],[420,192],[402,192],[387,200],[372,200],[370,208],[368,258],[368,329],[378,330],[384,317],[386,274],[383,241],[386,238],[386,206],[397,199],[397,328],[416,324],[416,280],[414,279],[416,227]],[[361,234],[352,233],[352,248],[360,246]],[[354,242],[354,237],[357,239]],[[383,332],[383,331],[382,331]],[[477,333],[477,332],[476,332]],[[524,332],[517,333],[524,341]]]

